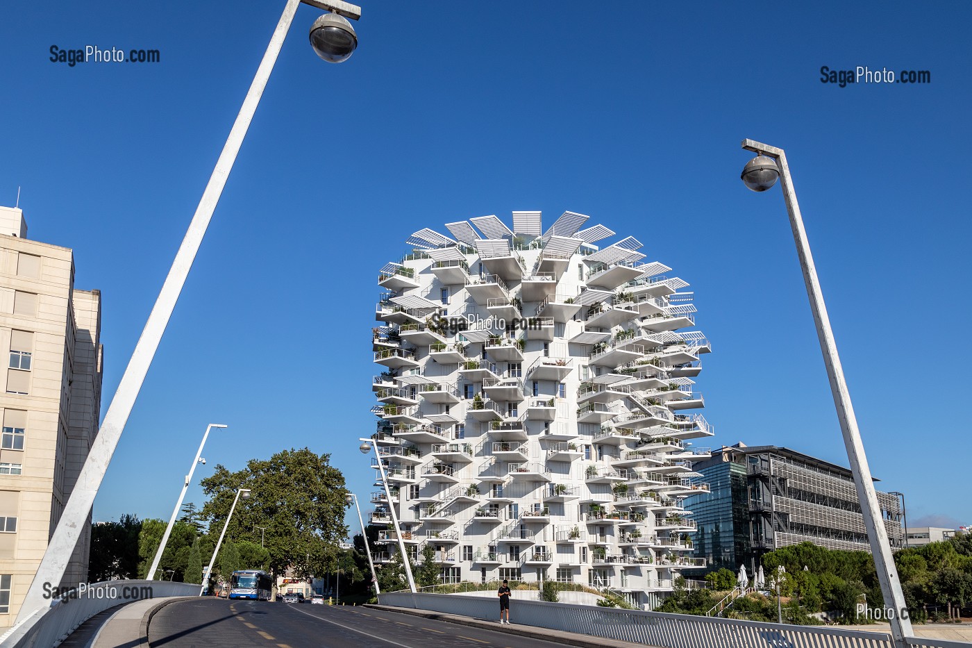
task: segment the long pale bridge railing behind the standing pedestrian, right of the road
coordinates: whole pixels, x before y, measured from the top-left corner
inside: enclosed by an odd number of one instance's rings
[[[516,592],[513,592],[515,599]],[[382,605],[411,607],[480,619],[497,618],[492,598],[461,594],[380,594]],[[515,623],[579,632],[665,648],[894,648],[884,632],[718,619],[594,605],[513,600]],[[968,643],[908,637],[915,648],[969,648]]]

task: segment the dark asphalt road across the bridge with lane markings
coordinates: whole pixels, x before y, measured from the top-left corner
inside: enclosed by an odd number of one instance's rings
[[[515,629],[515,624],[510,628]],[[149,643],[152,648],[551,648],[566,645],[364,607],[227,601],[208,596],[163,607],[149,626]]]

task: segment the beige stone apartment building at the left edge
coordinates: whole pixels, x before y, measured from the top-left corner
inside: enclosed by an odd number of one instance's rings
[[[17,619],[101,408],[101,294],[75,289],[69,248],[26,234],[22,211],[0,207],[0,629]],[[55,585],[87,580],[89,528]]]

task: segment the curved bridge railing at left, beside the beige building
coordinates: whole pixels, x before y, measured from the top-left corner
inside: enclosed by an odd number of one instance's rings
[[[162,596],[195,596],[199,586],[170,581],[105,581],[52,598],[51,606],[0,634],[3,648],[53,648],[99,612],[120,603]]]

